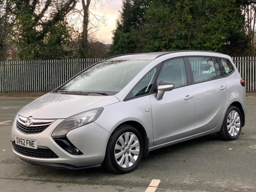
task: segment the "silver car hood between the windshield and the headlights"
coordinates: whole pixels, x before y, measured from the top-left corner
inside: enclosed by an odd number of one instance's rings
[[[66,119],[75,114],[119,102],[115,96],[47,93],[23,107],[18,114],[34,119]]]

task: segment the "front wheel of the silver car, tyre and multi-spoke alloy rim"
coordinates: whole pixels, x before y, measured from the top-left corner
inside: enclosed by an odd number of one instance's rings
[[[140,163],[143,140],[139,131],[130,125],[121,125],[108,140],[103,166],[114,173],[128,173]]]

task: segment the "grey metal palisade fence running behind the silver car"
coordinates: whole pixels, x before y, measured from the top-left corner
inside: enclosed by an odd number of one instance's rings
[[[92,64],[92,59],[62,59],[0,62],[0,92],[47,92]],[[247,92],[256,92],[256,57],[234,57],[233,61],[246,82]]]

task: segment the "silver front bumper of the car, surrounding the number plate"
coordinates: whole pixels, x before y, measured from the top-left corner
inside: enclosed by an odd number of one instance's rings
[[[17,129],[16,117],[11,131],[13,145],[15,145],[15,136],[18,136],[37,140],[38,149],[30,149],[22,146],[22,149],[19,147],[19,150],[17,150],[17,148],[13,147],[13,152],[25,162],[53,168],[84,169],[101,165],[105,157],[105,150],[110,133],[94,122],[69,131],[67,138],[82,152],[82,155],[72,155],[62,149],[51,137],[52,132],[62,120],[63,119],[55,120],[41,133],[25,134]],[[25,152],[20,151],[23,149]],[[41,153],[41,151],[38,150],[42,150],[43,152],[45,150],[52,151],[56,156],[53,155],[53,157],[50,156],[50,158],[47,155],[45,157],[35,157],[33,155],[35,152]]]

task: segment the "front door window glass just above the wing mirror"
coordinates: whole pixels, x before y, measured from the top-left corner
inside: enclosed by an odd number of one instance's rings
[[[157,84],[161,81],[169,81],[174,87],[187,85],[187,76],[183,58],[172,59],[163,64],[157,79]]]

